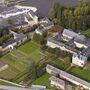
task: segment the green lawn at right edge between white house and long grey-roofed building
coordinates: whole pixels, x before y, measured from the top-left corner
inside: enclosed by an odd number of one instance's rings
[[[72,67],[69,72],[81,79],[84,79],[90,82],[90,70],[89,69],[82,69],[79,67]]]

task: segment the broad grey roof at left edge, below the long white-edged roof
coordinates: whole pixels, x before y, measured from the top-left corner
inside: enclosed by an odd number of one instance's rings
[[[11,23],[8,21],[10,20]],[[11,16],[8,19],[0,18],[0,27],[18,27],[22,25],[27,25],[28,23],[25,21],[24,14],[23,15],[16,15]]]

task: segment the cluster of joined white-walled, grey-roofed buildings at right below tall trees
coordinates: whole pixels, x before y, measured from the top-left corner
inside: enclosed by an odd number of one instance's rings
[[[62,33],[47,39],[47,46],[72,53],[72,63],[80,67],[84,67],[88,57],[90,57],[90,38],[68,29],[64,29]],[[75,47],[85,49],[79,51]]]

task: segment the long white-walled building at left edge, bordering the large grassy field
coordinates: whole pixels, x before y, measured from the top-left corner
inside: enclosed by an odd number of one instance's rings
[[[25,42],[27,40],[27,36],[24,34],[17,34],[13,31],[10,31],[10,33],[14,36],[13,38],[11,38],[8,42],[3,43],[2,46],[0,46],[0,50],[2,52],[9,52],[11,50],[13,50],[15,47],[19,46],[20,44],[22,44],[23,42]]]

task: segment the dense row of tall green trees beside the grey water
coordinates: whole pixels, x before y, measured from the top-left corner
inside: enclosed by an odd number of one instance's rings
[[[75,8],[65,8],[59,2],[54,3],[48,13],[48,17],[65,28],[75,31],[86,30],[90,24],[90,3],[81,2]]]

